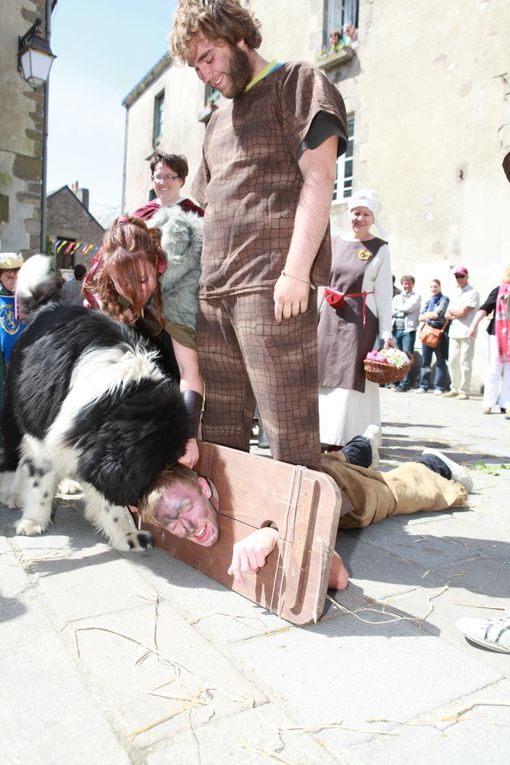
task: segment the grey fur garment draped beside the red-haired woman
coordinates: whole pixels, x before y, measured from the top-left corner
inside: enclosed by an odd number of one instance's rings
[[[195,329],[202,253],[202,219],[179,205],[162,207],[148,225],[161,229],[161,246],[168,265],[161,276],[166,321]]]

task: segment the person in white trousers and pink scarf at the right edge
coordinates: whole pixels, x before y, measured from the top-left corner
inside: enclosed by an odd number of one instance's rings
[[[510,410],[510,266],[505,268],[501,284],[489,293],[469,325],[468,337],[475,338],[478,325],[492,314],[487,327],[487,373],[483,388],[483,413],[492,414],[499,407]]]

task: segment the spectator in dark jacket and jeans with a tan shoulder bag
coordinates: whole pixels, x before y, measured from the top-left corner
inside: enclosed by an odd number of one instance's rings
[[[444,331],[445,313],[450,302],[450,298],[441,292],[441,282],[439,279],[432,279],[430,283],[432,296],[425,303],[419,321],[426,322],[429,326],[436,329],[442,329],[443,334],[436,348],[429,348],[422,343],[421,346],[421,372],[420,383],[416,393],[426,393],[430,386],[430,377],[432,374],[432,354],[436,354],[436,373],[434,375],[434,395],[440,396],[448,387],[448,367],[446,359],[448,358],[448,335]]]

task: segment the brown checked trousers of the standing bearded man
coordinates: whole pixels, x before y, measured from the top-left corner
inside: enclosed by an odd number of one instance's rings
[[[272,292],[200,300],[198,336],[207,369],[203,440],[249,451],[257,401],[273,458],[318,469],[315,300],[281,324]]]

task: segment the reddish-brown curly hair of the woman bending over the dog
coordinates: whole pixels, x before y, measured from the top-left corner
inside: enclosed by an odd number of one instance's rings
[[[136,289],[138,273],[136,263],[144,260],[156,269],[156,289],[151,296],[151,309],[161,326],[161,288],[159,274],[166,263],[161,248],[161,231],[149,228],[140,218],[121,216],[116,218],[103,236],[101,248],[102,263],[95,277],[95,289],[102,303],[102,308],[115,318],[126,321],[126,305],[115,289],[113,277],[123,287],[129,300],[134,319],[143,316],[144,304]]]

